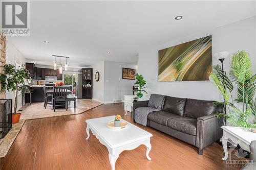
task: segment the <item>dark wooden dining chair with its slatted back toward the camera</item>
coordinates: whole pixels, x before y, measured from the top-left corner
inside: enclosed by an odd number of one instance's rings
[[[68,89],[68,87],[63,87],[63,86],[54,86],[53,87],[53,109],[54,109],[54,111],[55,111],[56,106],[65,106],[65,109],[68,110],[67,89]]]

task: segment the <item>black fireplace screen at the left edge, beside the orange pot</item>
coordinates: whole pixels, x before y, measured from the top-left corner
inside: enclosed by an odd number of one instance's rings
[[[12,128],[12,100],[0,99],[0,139]]]

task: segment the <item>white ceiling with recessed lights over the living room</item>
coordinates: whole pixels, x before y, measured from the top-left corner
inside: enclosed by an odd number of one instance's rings
[[[84,67],[136,64],[141,48],[254,16],[255,2],[32,1],[30,9],[31,36],[8,37],[25,58],[53,65],[52,55],[63,55],[71,67]]]

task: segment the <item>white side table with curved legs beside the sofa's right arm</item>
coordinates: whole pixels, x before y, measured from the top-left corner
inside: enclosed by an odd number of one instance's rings
[[[232,126],[222,126],[223,136],[222,136],[222,146],[225,156],[222,160],[227,160],[227,141],[231,140],[234,143],[240,145],[246,151],[250,151],[250,143],[252,140],[256,140],[256,134],[252,133],[249,129],[242,127],[232,127]]]

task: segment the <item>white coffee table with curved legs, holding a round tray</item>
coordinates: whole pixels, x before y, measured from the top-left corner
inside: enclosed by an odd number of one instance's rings
[[[122,151],[133,150],[141,144],[146,146],[146,158],[151,160],[148,154],[151,150],[150,137],[153,135],[129,122],[123,130],[111,130],[106,126],[106,123],[114,119],[115,116],[108,116],[86,120],[86,139],[89,139],[91,130],[100,143],[108,148],[111,169],[115,169],[116,160]],[[123,119],[121,121],[126,122]]]

